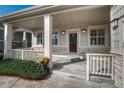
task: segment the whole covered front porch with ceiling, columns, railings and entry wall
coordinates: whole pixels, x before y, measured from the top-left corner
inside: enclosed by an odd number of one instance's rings
[[[67,69],[63,67],[67,65],[67,68],[70,68],[68,73],[72,78],[79,76],[76,78],[85,78],[89,81],[92,80],[93,74],[109,76],[113,79],[112,56],[106,54],[110,51],[110,6],[72,6],[71,9],[68,7],[70,6],[66,6],[67,9],[63,10],[60,6],[60,10],[53,9],[53,13],[42,11],[41,14],[31,17],[27,15],[24,18],[19,16],[5,20],[4,57],[36,61],[39,56],[47,56],[50,58],[49,67],[53,67],[55,73],[61,70],[63,74],[66,73],[63,71]],[[18,49],[12,48],[13,26],[25,30],[23,47]],[[26,37],[26,31],[31,33],[31,40]],[[30,48],[27,48],[28,41],[31,42]],[[86,62],[87,53],[93,55],[88,55]],[[70,60],[73,58],[76,60],[71,62],[62,57],[62,63],[59,63],[61,60],[54,60],[54,54],[66,55]],[[79,75],[80,73],[83,74]]]

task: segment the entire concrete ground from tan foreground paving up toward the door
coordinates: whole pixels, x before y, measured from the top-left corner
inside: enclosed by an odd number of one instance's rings
[[[86,81],[86,61],[68,62],[58,59],[53,74],[45,80],[27,80],[19,77],[0,76],[0,88],[115,88],[109,77],[92,76]]]

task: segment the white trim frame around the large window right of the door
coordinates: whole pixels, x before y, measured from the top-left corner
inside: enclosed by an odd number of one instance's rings
[[[105,28],[105,44],[104,45],[91,45],[91,41],[90,41],[90,31],[91,31],[91,29],[95,29],[95,28]],[[107,30],[108,30],[108,26],[107,25],[94,25],[94,26],[88,26],[88,47],[93,47],[93,48],[106,48],[106,47],[108,47],[108,45],[107,45],[107,40],[106,39],[108,39],[108,37],[107,37]]]

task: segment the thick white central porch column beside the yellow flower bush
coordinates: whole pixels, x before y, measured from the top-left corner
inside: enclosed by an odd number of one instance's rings
[[[52,16],[44,15],[44,56],[50,58],[49,67],[52,67]]]

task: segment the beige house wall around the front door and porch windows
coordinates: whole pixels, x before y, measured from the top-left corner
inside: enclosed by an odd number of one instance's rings
[[[89,43],[90,35],[87,26],[86,32],[82,33],[80,28],[65,29],[65,34],[62,34],[63,30],[54,29],[59,33],[58,45],[53,45],[53,54],[69,54],[69,33],[76,32],[77,37],[77,54],[85,55],[86,53],[108,53],[110,51],[110,30],[109,25],[92,25],[92,27],[105,27],[105,46],[91,46]],[[32,47],[37,50],[43,51],[43,45],[37,45],[36,33],[42,32],[43,30],[35,30],[32,37]]]

